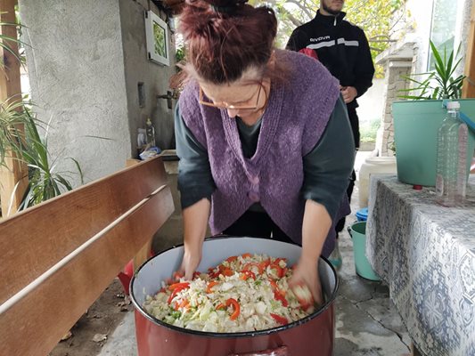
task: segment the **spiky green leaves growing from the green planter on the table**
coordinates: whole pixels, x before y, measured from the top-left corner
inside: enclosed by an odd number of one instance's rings
[[[462,96],[463,79],[465,79],[465,76],[455,77],[455,71],[463,60],[459,55],[460,46],[456,53],[452,50],[448,56],[446,48],[444,48],[442,55],[442,53],[438,52],[437,47],[432,41],[430,41],[430,49],[435,70],[428,73],[405,76],[405,80],[414,83],[415,86],[400,90],[400,92],[406,93],[399,96],[401,99],[440,100],[459,99]],[[425,79],[415,79],[415,77],[425,77]]]

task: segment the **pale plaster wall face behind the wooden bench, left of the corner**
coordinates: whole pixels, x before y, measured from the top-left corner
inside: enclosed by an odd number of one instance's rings
[[[131,143],[119,3],[20,0],[20,16],[31,97],[37,117],[51,121],[57,170],[73,170],[66,158],[76,158],[89,182],[123,168]]]

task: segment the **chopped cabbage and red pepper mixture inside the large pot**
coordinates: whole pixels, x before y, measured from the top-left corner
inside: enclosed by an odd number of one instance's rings
[[[161,282],[143,308],[180,328],[233,333],[275,328],[314,312],[288,286],[292,269],[285,258],[238,255],[191,281]]]

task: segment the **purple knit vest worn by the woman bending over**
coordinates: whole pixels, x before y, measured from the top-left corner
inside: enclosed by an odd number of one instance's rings
[[[236,121],[225,109],[200,105],[199,86],[192,81],[180,96],[184,123],[208,150],[217,190],[212,195],[209,226],[213,234],[225,231],[255,202],[292,240],[301,244],[305,199],[300,190],[302,158],[314,147],[340,94],[338,80],[318,61],[300,53],[276,51],[291,76],[283,85],[271,84],[270,97],[252,158],[242,155]],[[339,198],[340,197],[336,197]],[[348,201],[336,222],[349,213]],[[323,247],[334,246],[332,228]]]

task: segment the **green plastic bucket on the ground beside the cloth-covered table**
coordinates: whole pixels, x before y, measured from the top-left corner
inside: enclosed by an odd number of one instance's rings
[[[353,255],[355,256],[356,274],[364,279],[381,280],[366,258],[366,222],[356,222],[348,228],[353,239]]]

